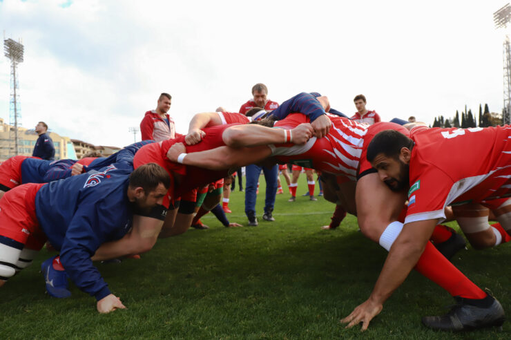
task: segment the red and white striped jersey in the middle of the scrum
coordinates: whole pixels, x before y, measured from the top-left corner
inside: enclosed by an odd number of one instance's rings
[[[305,145],[274,144],[270,145],[273,156],[279,162],[291,162],[336,176],[347,176],[356,180],[363,137],[368,125],[359,124],[337,115],[328,115],[332,126],[325,138],[311,138]],[[309,117],[301,113],[291,113],[275,126],[293,129],[299,124],[309,122]]]

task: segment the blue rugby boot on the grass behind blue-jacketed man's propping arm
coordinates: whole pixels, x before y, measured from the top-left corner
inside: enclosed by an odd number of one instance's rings
[[[71,296],[69,291],[68,274],[60,263],[60,257],[53,256],[41,263],[41,272],[46,282],[46,292],[50,296],[64,299]]]

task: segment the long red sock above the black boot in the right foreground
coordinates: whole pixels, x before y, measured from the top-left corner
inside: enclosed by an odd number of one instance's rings
[[[486,293],[454,267],[431,242],[427,243],[415,269],[447,290],[452,296],[461,296],[466,299],[484,299],[486,297]]]

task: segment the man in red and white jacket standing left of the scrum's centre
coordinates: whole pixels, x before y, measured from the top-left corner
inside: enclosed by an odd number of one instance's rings
[[[171,100],[171,95],[162,93],[158,98],[156,109],[146,112],[144,119],[140,122],[142,140],[161,142],[175,138],[175,124],[167,113],[171,108]]]

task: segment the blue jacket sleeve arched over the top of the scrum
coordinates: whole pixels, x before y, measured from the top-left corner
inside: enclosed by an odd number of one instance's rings
[[[304,115],[308,115],[311,122],[314,122],[316,118],[320,115],[325,114],[325,109],[321,106],[320,102],[316,100],[316,97],[320,97],[320,94],[317,92],[313,93],[298,93],[294,97],[291,97],[289,100],[286,100],[278,108],[271,111],[271,115],[276,116],[278,120],[283,120],[289,113],[303,113]],[[331,108],[330,113],[335,115],[340,115],[341,117],[347,116],[344,113],[340,113],[339,111]]]

